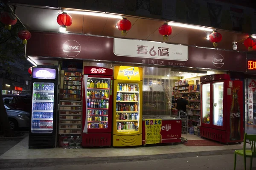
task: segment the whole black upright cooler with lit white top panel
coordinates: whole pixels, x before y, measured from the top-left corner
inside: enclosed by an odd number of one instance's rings
[[[32,68],[29,148],[55,147],[57,87],[56,69]]]

